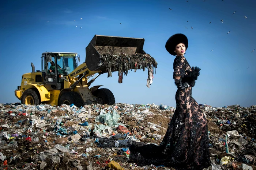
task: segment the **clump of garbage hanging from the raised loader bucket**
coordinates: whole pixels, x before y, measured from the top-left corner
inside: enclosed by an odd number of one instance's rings
[[[106,66],[106,72],[108,77],[112,76],[112,70],[118,71],[118,83],[123,83],[123,75],[128,74],[128,70],[148,69],[148,81],[151,82],[153,78],[154,67],[157,68],[157,62],[149,54],[124,54],[120,53],[117,55],[105,53],[102,54],[99,66],[104,64]],[[152,83],[152,82],[151,82]],[[148,84],[151,84],[148,83]]]

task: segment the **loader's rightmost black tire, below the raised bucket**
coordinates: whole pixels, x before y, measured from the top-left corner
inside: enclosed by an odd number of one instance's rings
[[[113,105],[116,103],[113,93],[107,88],[99,88],[93,92],[93,95],[101,100],[99,104]]]

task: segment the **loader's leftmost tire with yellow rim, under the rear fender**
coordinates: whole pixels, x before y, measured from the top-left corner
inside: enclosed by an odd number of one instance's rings
[[[38,105],[39,101],[37,93],[32,89],[25,90],[21,97],[21,103],[26,105]]]

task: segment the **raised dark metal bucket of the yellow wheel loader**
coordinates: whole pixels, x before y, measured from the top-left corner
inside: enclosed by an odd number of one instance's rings
[[[116,55],[118,53],[125,53],[128,55],[140,53],[146,54],[143,51],[144,39],[103,36],[95,35],[86,49],[86,65],[91,71],[106,71],[106,66],[102,64],[98,66],[102,54],[109,53]],[[117,71],[117,70],[113,70]]]

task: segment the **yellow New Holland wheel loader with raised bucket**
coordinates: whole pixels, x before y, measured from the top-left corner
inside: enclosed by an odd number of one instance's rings
[[[106,88],[91,86],[91,83],[106,72],[106,66],[101,63],[102,54],[128,55],[143,51],[144,39],[95,35],[86,47],[86,60],[78,66],[80,56],[75,52],[44,52],[42,53],[42,70],[22,75],[21,85],[15,90],[15,96],[22,104],[46,103],[52,106],[61,104],[100,103],[113,105],[113,93]],[[112,70],[117,71],[117,70]],[[87,82],[87,78],[98,73]]]

